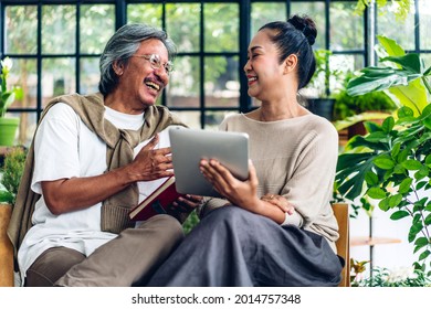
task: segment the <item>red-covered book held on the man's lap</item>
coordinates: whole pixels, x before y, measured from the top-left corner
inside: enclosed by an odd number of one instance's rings
[[[183,195],[186,194],[177,192],[175,177],[172,175],[149,194],[147,199],[133,207],[129,212],[129,217],[133,221],[145,221],[156,214],[169,214],[177,217],[178,212],[168,206]]]

